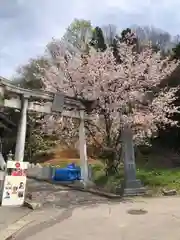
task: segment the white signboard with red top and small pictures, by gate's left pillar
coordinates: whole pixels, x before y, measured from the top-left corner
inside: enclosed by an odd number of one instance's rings
[[[21,206],[26,190],[28,162],[8,161],[4,181],[2,206]]]

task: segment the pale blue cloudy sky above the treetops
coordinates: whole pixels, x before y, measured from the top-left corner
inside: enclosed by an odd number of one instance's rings
[[[74,18],[119,28],[153,25],[180,34],[178,0],[0,0],[0,75],[43,53],[52,37],[60,38]]]

